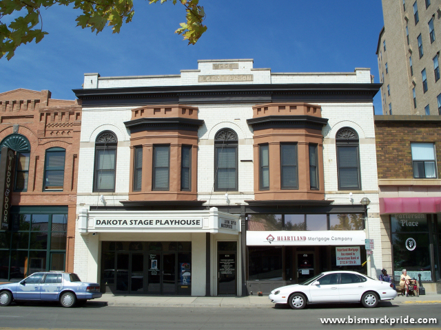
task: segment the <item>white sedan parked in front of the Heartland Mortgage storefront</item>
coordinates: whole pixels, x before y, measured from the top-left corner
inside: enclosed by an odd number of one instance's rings
[[[303,309],[316,303],[362,303],[376,307],[380,300],[397,296],[391,283],[373,280],[357,272],[323,272],[300,284],[278,287],[271,291],[269,300],[275,304],[289,304],[292,309]]]

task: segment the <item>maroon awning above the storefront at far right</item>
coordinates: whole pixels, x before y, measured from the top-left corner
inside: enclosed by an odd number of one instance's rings
[[[380,198],[380,214],[440,212],[441,197]]]

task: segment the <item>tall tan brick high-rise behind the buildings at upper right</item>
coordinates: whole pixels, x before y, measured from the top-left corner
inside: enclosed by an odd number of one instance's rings
[[[441,0],[382,0],[382,113],[441,115]]]

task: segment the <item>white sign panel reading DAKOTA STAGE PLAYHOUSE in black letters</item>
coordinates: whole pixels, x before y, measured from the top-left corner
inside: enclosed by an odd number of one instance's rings
[[[182,229],[182,228],[202,228],[202,217],[138,217],[127,219],[123,217],[95,217],[95,228],[161,228],[161,229]]]

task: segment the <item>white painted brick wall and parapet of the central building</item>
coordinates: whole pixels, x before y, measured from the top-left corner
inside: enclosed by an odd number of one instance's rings
[[[233,62],[233,61],[232,61]],[[214,70],[212,62],[198,63],[201,72],[182,72],[181,76],[150,76],[127,78],[98,78],[85,76],[84,88],[199,85],[200,74],[253,74],[252,83],[370,83],[370,72],[357,69],[356,73],[342,74],[284,74],[271,75],[269,69],[252,70],[252,61],[240,61],[239,69]],[[95,78],[96,77],[96,78]],[[90,83],[92,80],[92,83]],[[86,83],[89,83],[88,85]],[[204,83],[230,84],[230,83]],[[232,83],[235,84],[235,83]],[[141,105],[141,104],[140,104]],[[189,104],[191,105],[191,104]],[[194,104],[196,105],[196,104]],[[252,118],[255,104],[197,104],[198,118],[204,125],[198,131],[198,199],[209,201],[211,205],[225,205],[225,192],[212,192],[214,183],[214,135],[223,128],[234,129],[238,134],[238,192],[229,192],[230,205],[254,199],[254,163],[240,162],[253,159],[253,133],[246,120]],[[322,103],[322,117],[328,118],[322,129],[324,137],[323,159],[325,173],[325,199],[335,204],[360,203],[362,197],[371,200],[369,206],[369,236],[376,241],[372,256],[372,267],[382,268],[380,218],[378,217],[378,179],[376,168],[376,148],[373,127],[372,102],[367,103]],[[103,205],[98,193],[92,192],[94,141],[104,130],[114,131],[119,146],[116,159],[116,192],[105,195],[107,206],[121,206],[119,201],[128,199],[130,184],[130,134],[123,122],[130,120],[132,107],[85,108],[81,126],[79,157],[79,181],[77,208]],[[353,201],[349,201],[349,191],[338,191],[335,135],[338,129],[349,126],[360,136],[360,168],[362,190],[352,191]],[[74,271],[84,277],[88,269],[88,236],[78,232],[75,240]],[[375,273],[373,273],[375,274]]]

